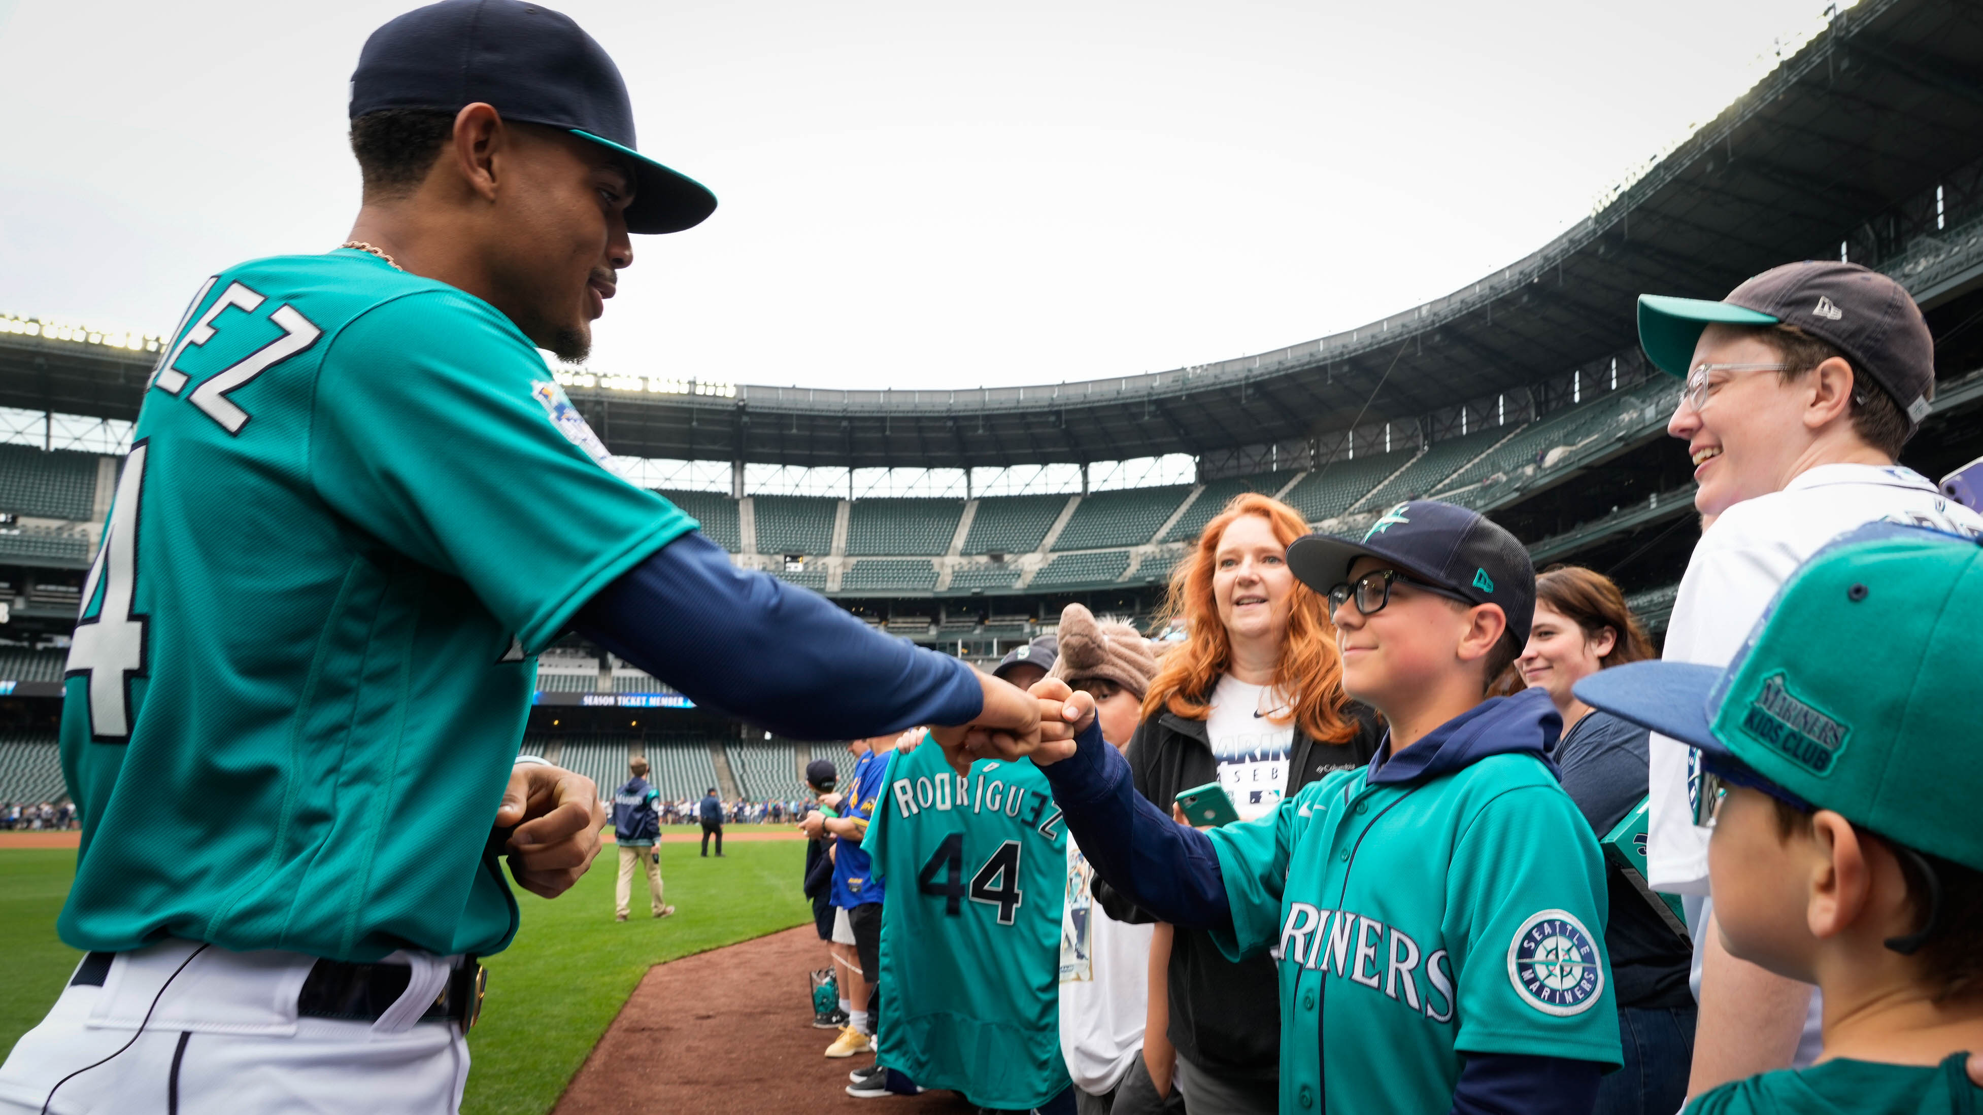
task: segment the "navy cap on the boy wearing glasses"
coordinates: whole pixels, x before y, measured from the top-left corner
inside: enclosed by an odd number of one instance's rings
[[[1408,499],[1362,539],[1307,535],[1287,547],[1287,568],[1317,592],[1350,578],[1360,557],[1388,560],[1412,576],[1475,604],[1499,604],[1515,642],[1529,642],[1535,564],[1499,523],[1438,499]]]

